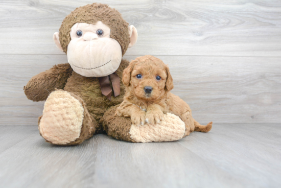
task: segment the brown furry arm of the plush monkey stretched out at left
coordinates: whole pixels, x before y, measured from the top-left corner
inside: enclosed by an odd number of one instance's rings
[[[55,65],[51,69],[39,73],[24,86],[27,98],[36,102],[46,100],[56,88],[63,89],[71,74],[72,68],[68,63]]]

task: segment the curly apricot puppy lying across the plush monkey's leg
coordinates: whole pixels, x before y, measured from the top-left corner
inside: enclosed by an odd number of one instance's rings
[[[122,81],[126,93],[115,115],[131,117],[132,124],[144,125],[157,124],[171,112],[185,123],[185,135],[212,129],[212,122],[207,126],[196,122],[189,105],[170,92],[173,79],[169,67],[160,59],[150,55],[136,58],[124,69]]]

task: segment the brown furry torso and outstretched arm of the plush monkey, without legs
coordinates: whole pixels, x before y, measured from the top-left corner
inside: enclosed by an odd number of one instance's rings
[[[128,66],[129,61],[122,60],[116,74],[122,80],[122,72]],[[111,106],[120,104],[123,101],[125,94],[125,86],[121,82],[121,93],[117,97],[112,97],[111,101],[106,96],[102,95],[99,80],[96,77],[83,77],[72,71],[70,65],[59,64],[55,65],[50,70],[40,73],[33,77],[24,87],[28,99],[33,101],[43,101],[49,94],[57,89],[73,93],[85,103],[87,111],[92,119],[95,119],[96,125],[95,134],[102,131],[99,123],[102,116]],[[62,68],[64,67],[64,68]],[[69,78],[68,78],[69,77]],[[67,79],[68,78],[68,79]],[[114,93],[112,91],[112,96]]]

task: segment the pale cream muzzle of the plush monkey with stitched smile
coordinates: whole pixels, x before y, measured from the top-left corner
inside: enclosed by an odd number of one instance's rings
[[[78,50],[79,48],[82,50]],[[120,44],[109,37],[92,42],[76,39],[71,40],[67,46],[67,60],[79,75],[104,77],[118,69],[122,60],[122,50]]]

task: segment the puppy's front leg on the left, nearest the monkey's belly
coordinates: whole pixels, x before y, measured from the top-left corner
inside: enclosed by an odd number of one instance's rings
[[[117,108],[115,115],[120,117],[131,117],[132,124],[145,125],[146,112],[136,105],[133,105],[132,103],[129,103],[125,100]]]

